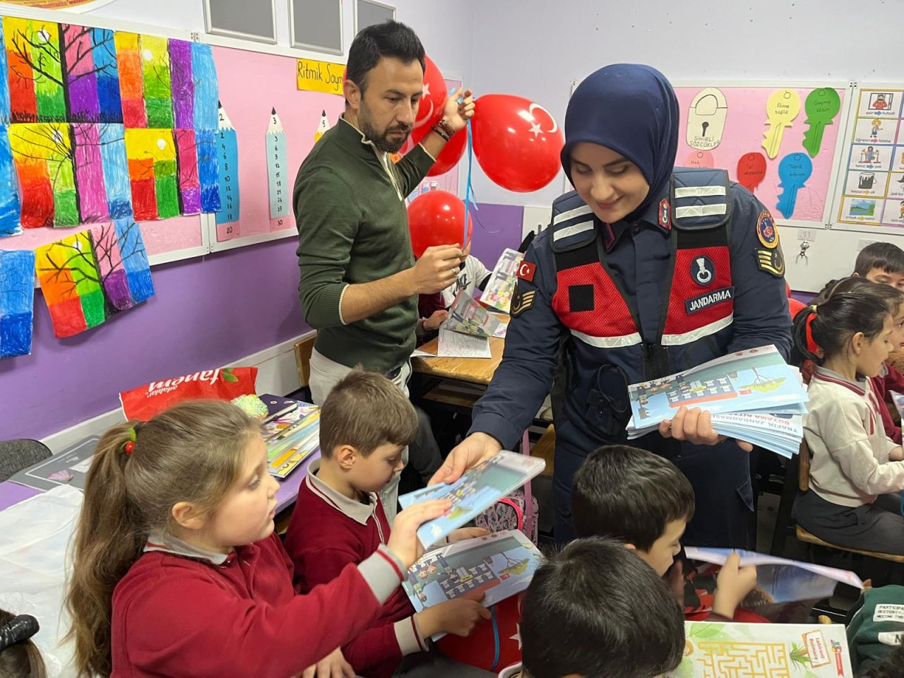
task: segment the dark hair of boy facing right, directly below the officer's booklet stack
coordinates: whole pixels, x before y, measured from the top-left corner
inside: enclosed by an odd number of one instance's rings
[[[649,551],[665,526],[693,516],[693,488],[672,462],[644,449],[608,445],[592,452],[571,488],[579,537],[597,534]]]

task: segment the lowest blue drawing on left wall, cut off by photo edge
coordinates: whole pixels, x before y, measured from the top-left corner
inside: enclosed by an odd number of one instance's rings
[[[32,353],[34,252],[0,250],[0,358]]]

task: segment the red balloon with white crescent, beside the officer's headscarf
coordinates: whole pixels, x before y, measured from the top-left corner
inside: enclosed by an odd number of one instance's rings
[[[530,99],[485,94],[476,99],[474,155],[496,184],[528,193],[559,174],[565,137],[550,112]]]

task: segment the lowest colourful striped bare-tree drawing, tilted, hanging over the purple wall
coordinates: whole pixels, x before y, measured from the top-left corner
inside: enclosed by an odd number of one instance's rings
[[[84,332],[154,296],[145,243],[130,218],[57,240],[35,256],[57,337]]]

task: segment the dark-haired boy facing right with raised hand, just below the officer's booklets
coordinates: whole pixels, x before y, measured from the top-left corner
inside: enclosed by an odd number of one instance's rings
[[[571,507],[579,537],[617,539],[663,577],[681,552],[684,528],[693,515],[691,483],[672,462],[627,445],[599,447],[574,476]],[[739,568],[731,554],[719,572],[712,616],[730,621],[756,586],[757,569]],[[680,589],[682,571],[670,573]],[[674,581],[673,581],[674,580]]]

